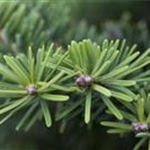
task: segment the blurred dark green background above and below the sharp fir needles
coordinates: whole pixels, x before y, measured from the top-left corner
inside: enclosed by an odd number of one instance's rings
[[[0,1],[0,51],[15,55],[28,46],[66,45],[71,40],[90,38],[101,43],[107,39],[127,39],[144,51],[150,46],[150,1],[146,0],[56,0]],[[2,61],[2,60],[1,60]],[[22,112],[23,113],[23,112]],[[130,137],[110,136],[99,125],[92,127],[80,117],[47,129],[42,122],[29,131],[15,131],[17,114],[0,126],[0,150],[130,150]]]

